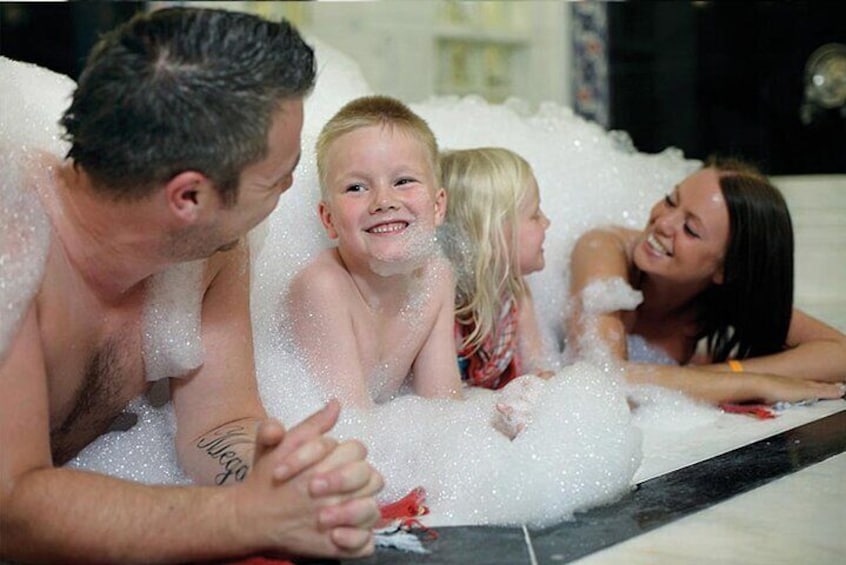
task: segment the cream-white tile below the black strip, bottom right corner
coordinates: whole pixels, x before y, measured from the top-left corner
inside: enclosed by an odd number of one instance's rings
[[[817,565],[844,556],[846,453],[576,563]]]

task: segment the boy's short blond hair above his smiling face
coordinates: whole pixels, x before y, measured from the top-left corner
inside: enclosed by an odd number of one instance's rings
[[[440,178],[438,142],[429,124],[395,98],[363,96],[345,104],[320,130],[315,149],[320,193],[324,199],[327,196],[326,161],[329,148],[342,135],[370,126],[396,127],[416,138],[426,148],[434,178]]]

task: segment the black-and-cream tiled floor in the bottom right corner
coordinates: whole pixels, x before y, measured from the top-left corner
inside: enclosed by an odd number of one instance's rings
[[[641,483],[544,531],[439,528],[428,554],[361,564],[840,563],[846,410]]]

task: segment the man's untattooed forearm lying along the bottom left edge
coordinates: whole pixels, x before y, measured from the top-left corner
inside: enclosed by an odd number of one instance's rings
[[[171,563],[249,553],[230,489],[148,486],[67,468],[31,471],[4,498],[0,560]]]

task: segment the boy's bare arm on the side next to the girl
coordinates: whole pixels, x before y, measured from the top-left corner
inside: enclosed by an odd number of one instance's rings
[[[446,269],[445,269],[446,270]],[[436,277],[432,293],[439,304],[435,323],[412,365],[414,392],[426,398],[461,399],[455,349],[455,285],[452,273]]]

